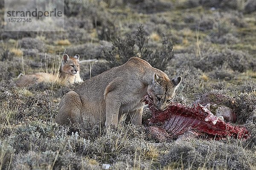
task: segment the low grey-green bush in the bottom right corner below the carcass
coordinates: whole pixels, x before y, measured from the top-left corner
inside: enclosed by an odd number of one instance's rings
[[[246,157],[246,159],[244,159]],[[193,141],[176,142],[160,162],[163,167],[185,169],[232,169],[250,170],[256,156],[234,144]]]

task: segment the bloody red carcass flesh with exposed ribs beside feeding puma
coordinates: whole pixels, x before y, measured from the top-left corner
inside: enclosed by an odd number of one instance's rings
[[[152,112],[149,125],[163,128],[170,137],[175,138],[188,130],[207,133],[215,139],[235,137],[247,139],[250,133],[245,126],[231,125],[214,116],[207,108],[198,104],[193,108],[179,103],[169,105],[164,111],[154,108],[152,100],[146,96],[144,100]]]

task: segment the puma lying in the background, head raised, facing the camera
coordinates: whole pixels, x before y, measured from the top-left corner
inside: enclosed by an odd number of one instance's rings
[[[59,78],[67,83],[83,82],[79,71],[79,54],[76,54],[74,57],[69,57],[67,54],[63,54],[59,77],[57,75],[43,72],[29,74],[17,79],[16,85],[18,87],[24,87],[38,82],[53,82]]]

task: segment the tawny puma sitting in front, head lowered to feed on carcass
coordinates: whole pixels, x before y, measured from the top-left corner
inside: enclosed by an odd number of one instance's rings
[[[149,95],[159,110],[172,102],[181,77],[169,77],[148,62],[131,57],[125,64],[99,74],[78,85],[63,96],[56,116],[58,124],[93,123],[108,127],[118,125],[128,113],[132,123],[141,125],[143,99]]]

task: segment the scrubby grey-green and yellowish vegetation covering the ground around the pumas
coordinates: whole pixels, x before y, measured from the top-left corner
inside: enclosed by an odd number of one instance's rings
[[[65,0],[66,31],[54,33],[3,31],[0,15],[0,169],[256,169],[255,14],[255,0]],[[145,128],[148,109],[142,126],[57,125],[58,103],[74,87],[17,88],[15,79],[56,69],[64,51],[99,60],[81,64],[84,80],[137,55],[183,78],[176,101],[226,94],[251,138],[158,142]]]

